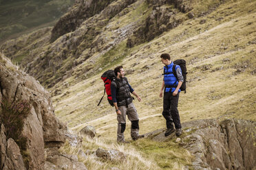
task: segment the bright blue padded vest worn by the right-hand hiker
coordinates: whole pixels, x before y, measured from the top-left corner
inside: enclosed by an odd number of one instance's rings
[[[180,68],[179,65],[175,66],[175,71]],[[181,70],[181,69],[180,69]],[[174,92],[174,90],[176,89],[176,87],[178,86],[178,80],[175,77],[175,75],[173,74],[173,62],[171,62],[171,64],[164,66],[164,85],[165,85],[165,92],[169,92],[171,90],[171,93]],[[168,87],[168,86],[172,86],[172,87]],[[180,89],[179,91],[180,92]]]

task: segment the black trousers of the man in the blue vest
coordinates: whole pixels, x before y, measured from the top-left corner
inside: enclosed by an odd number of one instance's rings
[[[175,125],[175,129],[181,128],[180,123],[180,114],[178,111],[178,101],[179,101],[180,93],[173,96],[173,93],[164,92],[164,110],[162,111],[162,115],[167,121],[167,128],[173,128],[173,123]]]

